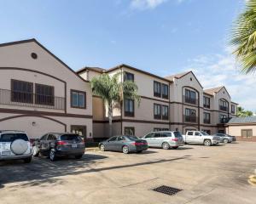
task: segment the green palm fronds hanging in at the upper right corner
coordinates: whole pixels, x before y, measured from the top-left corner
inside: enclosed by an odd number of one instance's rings
[[[256,0],[248,0],[245,10],[238,16],[232,30],[230,44],[241,65],[241,71],[252,73],[256,70]]]

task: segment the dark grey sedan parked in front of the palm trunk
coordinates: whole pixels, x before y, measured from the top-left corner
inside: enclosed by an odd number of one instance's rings
[[[139,139],[137,136],[120,135],[113,136],[106,141],[99,143],[100,150],[122,151],[124,154],[130,152],[140,153],[143,150],[148,150],[148,143],[144,139]]]

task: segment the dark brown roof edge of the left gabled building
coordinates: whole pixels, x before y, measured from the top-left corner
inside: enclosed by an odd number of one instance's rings
[[[41,43],[39,43],[35,38],[32,39],[27,39],[27,40],[21,40],[21,41],[15,41],[15,42],[7,42],[7,43],[2,43],[0,44],[0,48],[4,47],[4,46],[10,46],[10,45],[16,45],[16,44],[22,44],[22,43],[27,43],[27,42],[35,42],[38,44],[39,47],[43,48],[49,55],[51,55],[52,57],[54,57],[57,61],[59,61],[61,63],[61,65],[64,65],[69,71],[72,71],[73,74],[75,74],[77,77],[79,77],[81,80],[83,80],[84,82],[89,82],[87,80],[85,80],[84,78],[80,77],[79,74],[77,74],[75,71],[73,71],[73,69],[71,69],[68,65],[66,65],[61,59],[59,59],[57,56],[55,56],[55,54],[51,53],[49,51],[49,49],[45,48]]]

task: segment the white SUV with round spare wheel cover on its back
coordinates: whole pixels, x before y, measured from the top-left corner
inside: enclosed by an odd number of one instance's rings
[[[32,161],[32,144],[27,134],[16,130],[0,130],[0,161]]]

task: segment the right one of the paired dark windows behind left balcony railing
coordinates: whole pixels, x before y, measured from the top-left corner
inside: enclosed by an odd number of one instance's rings
[[[36,83],[36,104],[55,105],[54,87]]]

